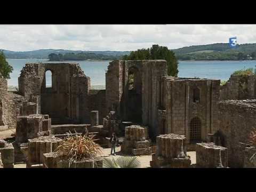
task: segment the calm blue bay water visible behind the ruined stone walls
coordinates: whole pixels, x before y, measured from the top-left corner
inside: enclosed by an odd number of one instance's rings
[[[45,59],[7,59],[13,67],[8,79],[9,86],[18,86],[21,69],[28,62],[49,62]],[[86,76],[91,78],[93,89],[105,89],[105,73],[110,61],[65,61],[78,62]],[[50,62],[54,63],[54,62]],[[227,81],[230,75],[240,69],[255,68],[256,60],[248,61],[179,61],[179,77],[199,77]],[[47,77],[46,77],[47,81]]]

